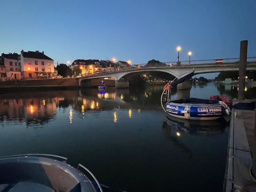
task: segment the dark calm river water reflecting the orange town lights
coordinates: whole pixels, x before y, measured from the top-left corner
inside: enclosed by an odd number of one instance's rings
[[[0,95],[0,156],[68,157],[100,183],[125,191],[222,191],[228,146],[225,119],[166,118],[163,86],[17,92]],[[246,98],[256,98],[255,87]],[[197,84],[172,99],[237,97],[237,87]]]

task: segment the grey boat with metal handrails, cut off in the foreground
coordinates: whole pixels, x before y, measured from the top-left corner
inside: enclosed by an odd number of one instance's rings
[[[100,183],[86,167],[66,163],[67,158],[27,154],[0,158],[1,192],[102,192]]]

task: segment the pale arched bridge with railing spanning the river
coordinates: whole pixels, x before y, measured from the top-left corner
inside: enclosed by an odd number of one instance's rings
[[[113,77],[116,81],[116,88],[129,87],[129,80],[135,73],[147,72],[147,71],[161,71],[169,73],[175,77],[178,77],[184,73],[195,70],[195,74],[201,73],[215,73],[222,71],[238,71],[239,61],[229,63],[206,63],[206,64],[184,64],[184,65],[170,65],[156,66],[156,67],[132,67],[123,69],[114,69],[110,71],[100,71],[97,74],[91,74],[87,76],[78,77],[79,85],[83,85],[83,81],[95,78]],[[256,70],[256,58],[255,61],[247,62],[247,70]]]

